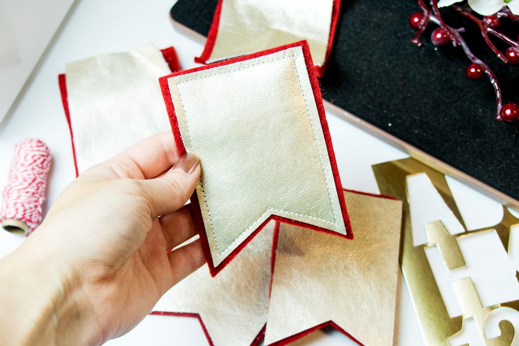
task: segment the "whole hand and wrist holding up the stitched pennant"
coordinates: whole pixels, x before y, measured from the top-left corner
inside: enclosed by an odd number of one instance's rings
[[[15,280],[0,287],[11,321],[0,317],[0,341],[101,344],[138,324],[204,262],[199,240],[167,253],[196,234],[184,203],[199,175],[198,159],[179,158],[171,132],[82,173],[0,261],[0,282]]]

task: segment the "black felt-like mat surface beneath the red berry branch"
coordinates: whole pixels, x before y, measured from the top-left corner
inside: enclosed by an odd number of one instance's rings
[[[207,36],[216,3],[179,0],[171,16]],[[436,26],[429,25],[423,47],[411,44],[408,19],[419,10],[414,0],[343,1],[323,98],[519,200],[519,124],[494,120],[490,82],[465,76],[470,61],[461,48],[431,44]],[[498,60],[474,24],[451,9],[442,13],[453,26],[466,26],[464,37],[493,68],[505,103],[519,103],[519,67]]]

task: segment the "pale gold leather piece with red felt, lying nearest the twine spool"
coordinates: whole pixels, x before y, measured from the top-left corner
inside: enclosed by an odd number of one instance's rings
[[[66,65],[59,84],[76,175],[169,128],[157,79],[178,70],[173,47],[151,44]]]

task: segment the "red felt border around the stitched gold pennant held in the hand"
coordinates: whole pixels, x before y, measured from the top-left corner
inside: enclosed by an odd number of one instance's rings
[[[264,50],[264,51],[257,52],[254,54],[249,54],[247,56],[229,59],[229,60],[221,61],[218,63],[210,64],[210,65],[200,66],[200,67],[192,68],[191,70],[179,71],[176,73],[172,73],[168,76],[161,77],[159,79],[160,87],[162,89],[162,95],[164,96],[164,101],[166,103],[166,109],[168,110],[168,115],[169,115],[169,119],[171,122],[171,128],[173,131],[173,135],[175,137],[175,144],[176,144],[177,150],[179,151],[179,154],[181,154],[181,155],[184,154],[186,149],[184,146],[184,142],[182,140],[182,135],[180,133],[179,123],[176,118],[173,100],[171,98],[171,92],[170,92],[169,84],[168,84],[169,78],[174,77],[174,76],[189,74],[189,73],[193,73],[193,72],[197,72],[197,71],[208,70],[209,68],[214,68],[214,67],[218,67],[218,66],[225,66],[225,65],[233,64],[233,63],[244,61],[244,60],[251,60],[254,58],[258,58],[258,57],[263,57],[268,54],[276,53],[276,52],[279,52],[279,51],[282,51],[285,49],[289,49],[289,48],[293,48],[293,47],[301,47],[303,49],[306,67],[307,67],[308,75],[309,75],[311,86],[312,86],[313,96],[315,98],[315,102],[317,105],[319,119],[321,121],[321,126],[322,126],[322,130],[323,130],[323,134],[324,134],[324,140],[325,140],[326,148],[327,148],[328,155],[330,158],[330,163],[331,163],[332,172],[333,172],[333,176],[334,176],[334,182],[335,182],[335,186],[337,189],[337,195],[339,197],[339,204],[340,204],[340,207],[342,210],[344,224],[346,226],[346,235],[343,236],[342,234],[339,234],[337,232],[334,232],[334,231],[331,231],[331,230],[328,230],[325,228],[317,227],[314,225],[309,225],[309,224],[302,223],[302,222],[297,222],[295,220],[284,218],[284,217],[277,216],[277,215],[271,215],[269,218],[267,218],[265,220],[265,222],[263,224],[261,224],[260,227],[258,227],[256,230],[254,230],[252,232],[252,234],[249,237],[247,237],[247,239],[245,239],[233,252],[231,252],[229,254],[229,256],[227,256],[223,260],[223,262],[221,262],[221,264],[219,264],[218,266],[214,266],[211,252],[209,249],[209,241],[207,239],[207,234],[205,232],[205,227],[203,225],[202,214],[200,212],[198,197],[197,197],[196,191],[195,191],[193,193],[193,196],[191,197],[193,210],[195,212],[195,225],[197,226],[198,232],[200,234],[202,248],[203,248],[204,254],[206,255],[206,259],[207,259],[207,262],[209,265],[209,271],[211,272],[212,276],[215,276],[218,272],[220,272],[242,250],[242,248],[244,246],[246,246],[256,236],[256,234],[263,227],[265,227],[265,225],[272,219],[277,220],[279,222],[296,225],[299,227],[305,227],[305,228],[310,228],[310,229],[314,229],[317,231],[331,233],[338,237],[353,239],[353,233],[351,232],[351,224],[350,224],[349,216],[348,216],[348,213],[346,210],[346,203],[344,201],[344,196],[342,193],[343,187],[342,187],[342,184],[340,183],[339,170],[337,168],[337,162],[335,160],[335,154],[334,154],[333,147],[332,147],[332,139],[330,137],[330,130],[328,128],[328,124],[326,122],[326,115],[324,113],[324,106],[322,103],[321,91],[319,89],[317,77],[316,77],[316,74],[314,71],[315,69],[313,68],[313,63],[312,63],[312,59],[310,56],[310,50],[308,48],[308,44],[306,43],[306,41],[299,41],[299,42],[292,43],[289,45]]]

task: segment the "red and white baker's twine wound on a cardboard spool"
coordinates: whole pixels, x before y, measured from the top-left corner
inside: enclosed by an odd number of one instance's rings
[[[28,226],[29,233],[39,226],[50,162],[50,150],[42,141],[22,140],[16,144],[9,183],[2,195],[0,223],[5,219],[19,220]]]

